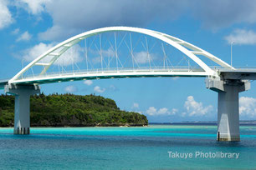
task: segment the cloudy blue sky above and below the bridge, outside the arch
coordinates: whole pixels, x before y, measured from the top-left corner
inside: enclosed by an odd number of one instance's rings
[[[81,32],[109,26],[165,32],[228,63],[234,42],[233,66],[256,67],[255,23],[256,2],[249,0],[0,0],[0,79],[13,77],[28,57],[38,57],[33,50],[42,52]],[[150,122],[217,120],[218,94],[199,77],[63,82],[41,89],[110,97],[121,109],[146,114]],[[240,118],[256,119],[255,82],[240,93]]]

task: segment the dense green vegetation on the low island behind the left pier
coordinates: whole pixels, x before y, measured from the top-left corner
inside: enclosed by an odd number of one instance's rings
[[[0,96],[0,127],[14,123],[14,97]],[[31,127],[144,126],[145,115],[121,111],[114,100],[95,95],[51,94],[30,97]]]

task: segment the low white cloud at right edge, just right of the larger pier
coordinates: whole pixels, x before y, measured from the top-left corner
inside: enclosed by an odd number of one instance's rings
[[[256,98],[240,97],[239,98],[239,113],[243,118],[256,117]]]

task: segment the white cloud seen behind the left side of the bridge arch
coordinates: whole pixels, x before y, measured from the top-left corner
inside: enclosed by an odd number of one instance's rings
[[[28,48],[23,51],[23,58],[27,62],[33,61],[33,59],[39,57],[44,52],[48,51],[51,47],[54,47],[55,43],[45,44],[40,42],[34,47]],[[82,57],[80,56],[81,47],[79,45],[74,45],[74,47],[70,47],[69,50],[64,52],[59,59],[54,62],[54,65],[63,65],[69,66],[72,63],[82,61]],[[45,57],[42,59],[42,62],[49,62],[51,57]]]

